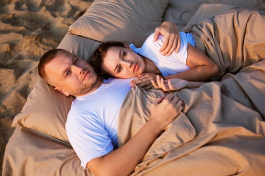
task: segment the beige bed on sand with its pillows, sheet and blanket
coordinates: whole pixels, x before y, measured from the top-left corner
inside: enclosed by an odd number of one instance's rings
[[[132,175],[264,175],[263,1],[98,0],[69,27],[58,48],[88,60],[100,42],[118,40],[139,47],[163,21],[191,32],[196,46],[222,72],[198,89],[172,92],[184,102],[183,112]],[[148,120],[149,111],[142,109],[165,94],[132,88],[120,112],[119,145]],[[73,99],[37,80],[14,118],[3,175],[91,175],[81,167],[65,131]]]

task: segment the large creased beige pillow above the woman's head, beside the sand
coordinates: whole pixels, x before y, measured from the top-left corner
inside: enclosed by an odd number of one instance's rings
[[[97,41],[129,42],[139,47],[161,25],[168,3],[169,0],[95,0],[68,29]]]

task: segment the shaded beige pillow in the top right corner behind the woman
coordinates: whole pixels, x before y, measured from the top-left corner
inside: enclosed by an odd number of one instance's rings
[[[218,7],[215,4],[222,4]],[[201,5],[206,5],[200,7]],[[213,5],[213,6],[211,6]],[[230,7],[229,7],[230,6]],[[192,22],[199,22],[200,20],[205,20],[210,16],[215,16],[224,12],[231,7],[245,7],[252,9],[264,10],[265,4],[261,1],[226,1],[226,0],[189,0],[189,1],[178,1],[170,0],[168,9],[164,14],[163,21],[171,21],[178,26],[179,30],[182,30],[188,21],[192,19]],[[200,8],[199,16],[195,14]],[[223,9],[224,8],[224,9]],[[202,15],[202,16],[200,16]],[[195,22],[195,23],[196,23]]]

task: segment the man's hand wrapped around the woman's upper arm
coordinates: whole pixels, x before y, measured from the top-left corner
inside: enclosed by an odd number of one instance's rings
[[[181,43],[178,28],[171,22],[163,22],[160,27],[155,28],[153,41],[158,39],[159,35],[164,36],[164,42],[160,49],[163,55],[171,55],[174,50],[176,53],[179,52]]]

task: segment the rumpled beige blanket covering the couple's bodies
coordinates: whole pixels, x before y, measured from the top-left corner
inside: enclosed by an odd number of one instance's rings
[[[132,175],[265,173],[264,19],[258,12],[232,10],[186,28],[197,47],[205,46],[218,63],[218,78],[236,74],[174,92],[184,102],[183,113],[156,139]],[[151,103],[166,94],[133,87],[120,112],[120,146],[148,121]]]

